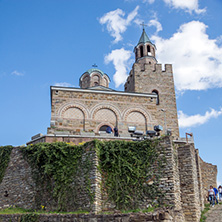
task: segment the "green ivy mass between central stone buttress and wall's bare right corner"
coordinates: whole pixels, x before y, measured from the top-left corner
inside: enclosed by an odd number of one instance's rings
[[[102,186],[108,201],[115,203],[117,209],[136,209],[146,198],[161,202],[163,193],[158,180],[163,157],[157,150],[158,143],[158,140],[96,142]]]

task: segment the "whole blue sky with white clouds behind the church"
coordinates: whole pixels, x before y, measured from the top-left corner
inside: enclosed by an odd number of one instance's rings
[[[79,87],[93,64],[122,91],[144,22],[158,63],[173,64],[180,136],[193,133],[221,184],[221,11],[221,0],[0,0],[0,146],[46,134],[50,86]]]

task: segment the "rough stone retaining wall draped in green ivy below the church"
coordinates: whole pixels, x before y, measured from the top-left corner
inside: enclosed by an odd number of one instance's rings
[[[99,212],[159,204],[179,209],[175,156],[169,137],[13,148],[8,168],[2,170],[0,193],[7,191],[8,196],[0,196],[0,207]]]

